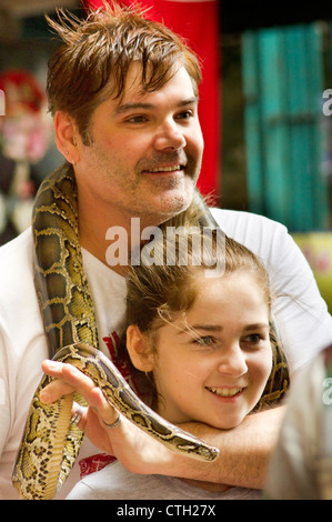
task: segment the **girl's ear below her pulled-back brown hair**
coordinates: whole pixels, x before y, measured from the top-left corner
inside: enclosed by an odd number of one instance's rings
[[[142,372],[151,372],[154,367],[154,357],[150,342],[137,324],[127,329],[127,350],[134,368]]]

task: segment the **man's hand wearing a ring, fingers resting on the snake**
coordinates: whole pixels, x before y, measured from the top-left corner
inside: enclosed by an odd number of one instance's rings
[[[56,378],[40,398],[44,403],[59,400],[62,395],[78,392],[89,404],[84,408],[79,428],[89,440],[103,452],[114,455],[122,465],[133,473],[162,473],[165,466],[171,470],[175,455],[155,439],[144,433],[132,422],[121,415],[121,422],[115,428],[108,428],[119,419],[119,412],[105,400],[102,391],[93,381],[71,364],[57,361],[44,361],[42,370]],[[72,414],[78,405],[73,404]],[[165,471],[164,471],[164,474]]]

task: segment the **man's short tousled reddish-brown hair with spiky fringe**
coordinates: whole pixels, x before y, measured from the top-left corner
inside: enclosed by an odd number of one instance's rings
[[[161,23],[144,18],[139,7],[91,10],[84,20],[58,11],[48,18],[62,44],[49,61],[47,93],[50,112],[67,112],[85,144],[94,109],[109,97],[121,98],[130,66],[141,66],[142,92],[154,91],[184,67],[195,94],[199,60],[184,41]]]

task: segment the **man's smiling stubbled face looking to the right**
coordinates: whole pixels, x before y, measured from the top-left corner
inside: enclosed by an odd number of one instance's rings
[[[133,64],[121,100],[110,98],[95,109],[90,138],[89,145],[80,141],[78,187],[109,219],[140,217],[141,224],[155,225],[191,202],[203,139],[184,68],[142,94]]]

